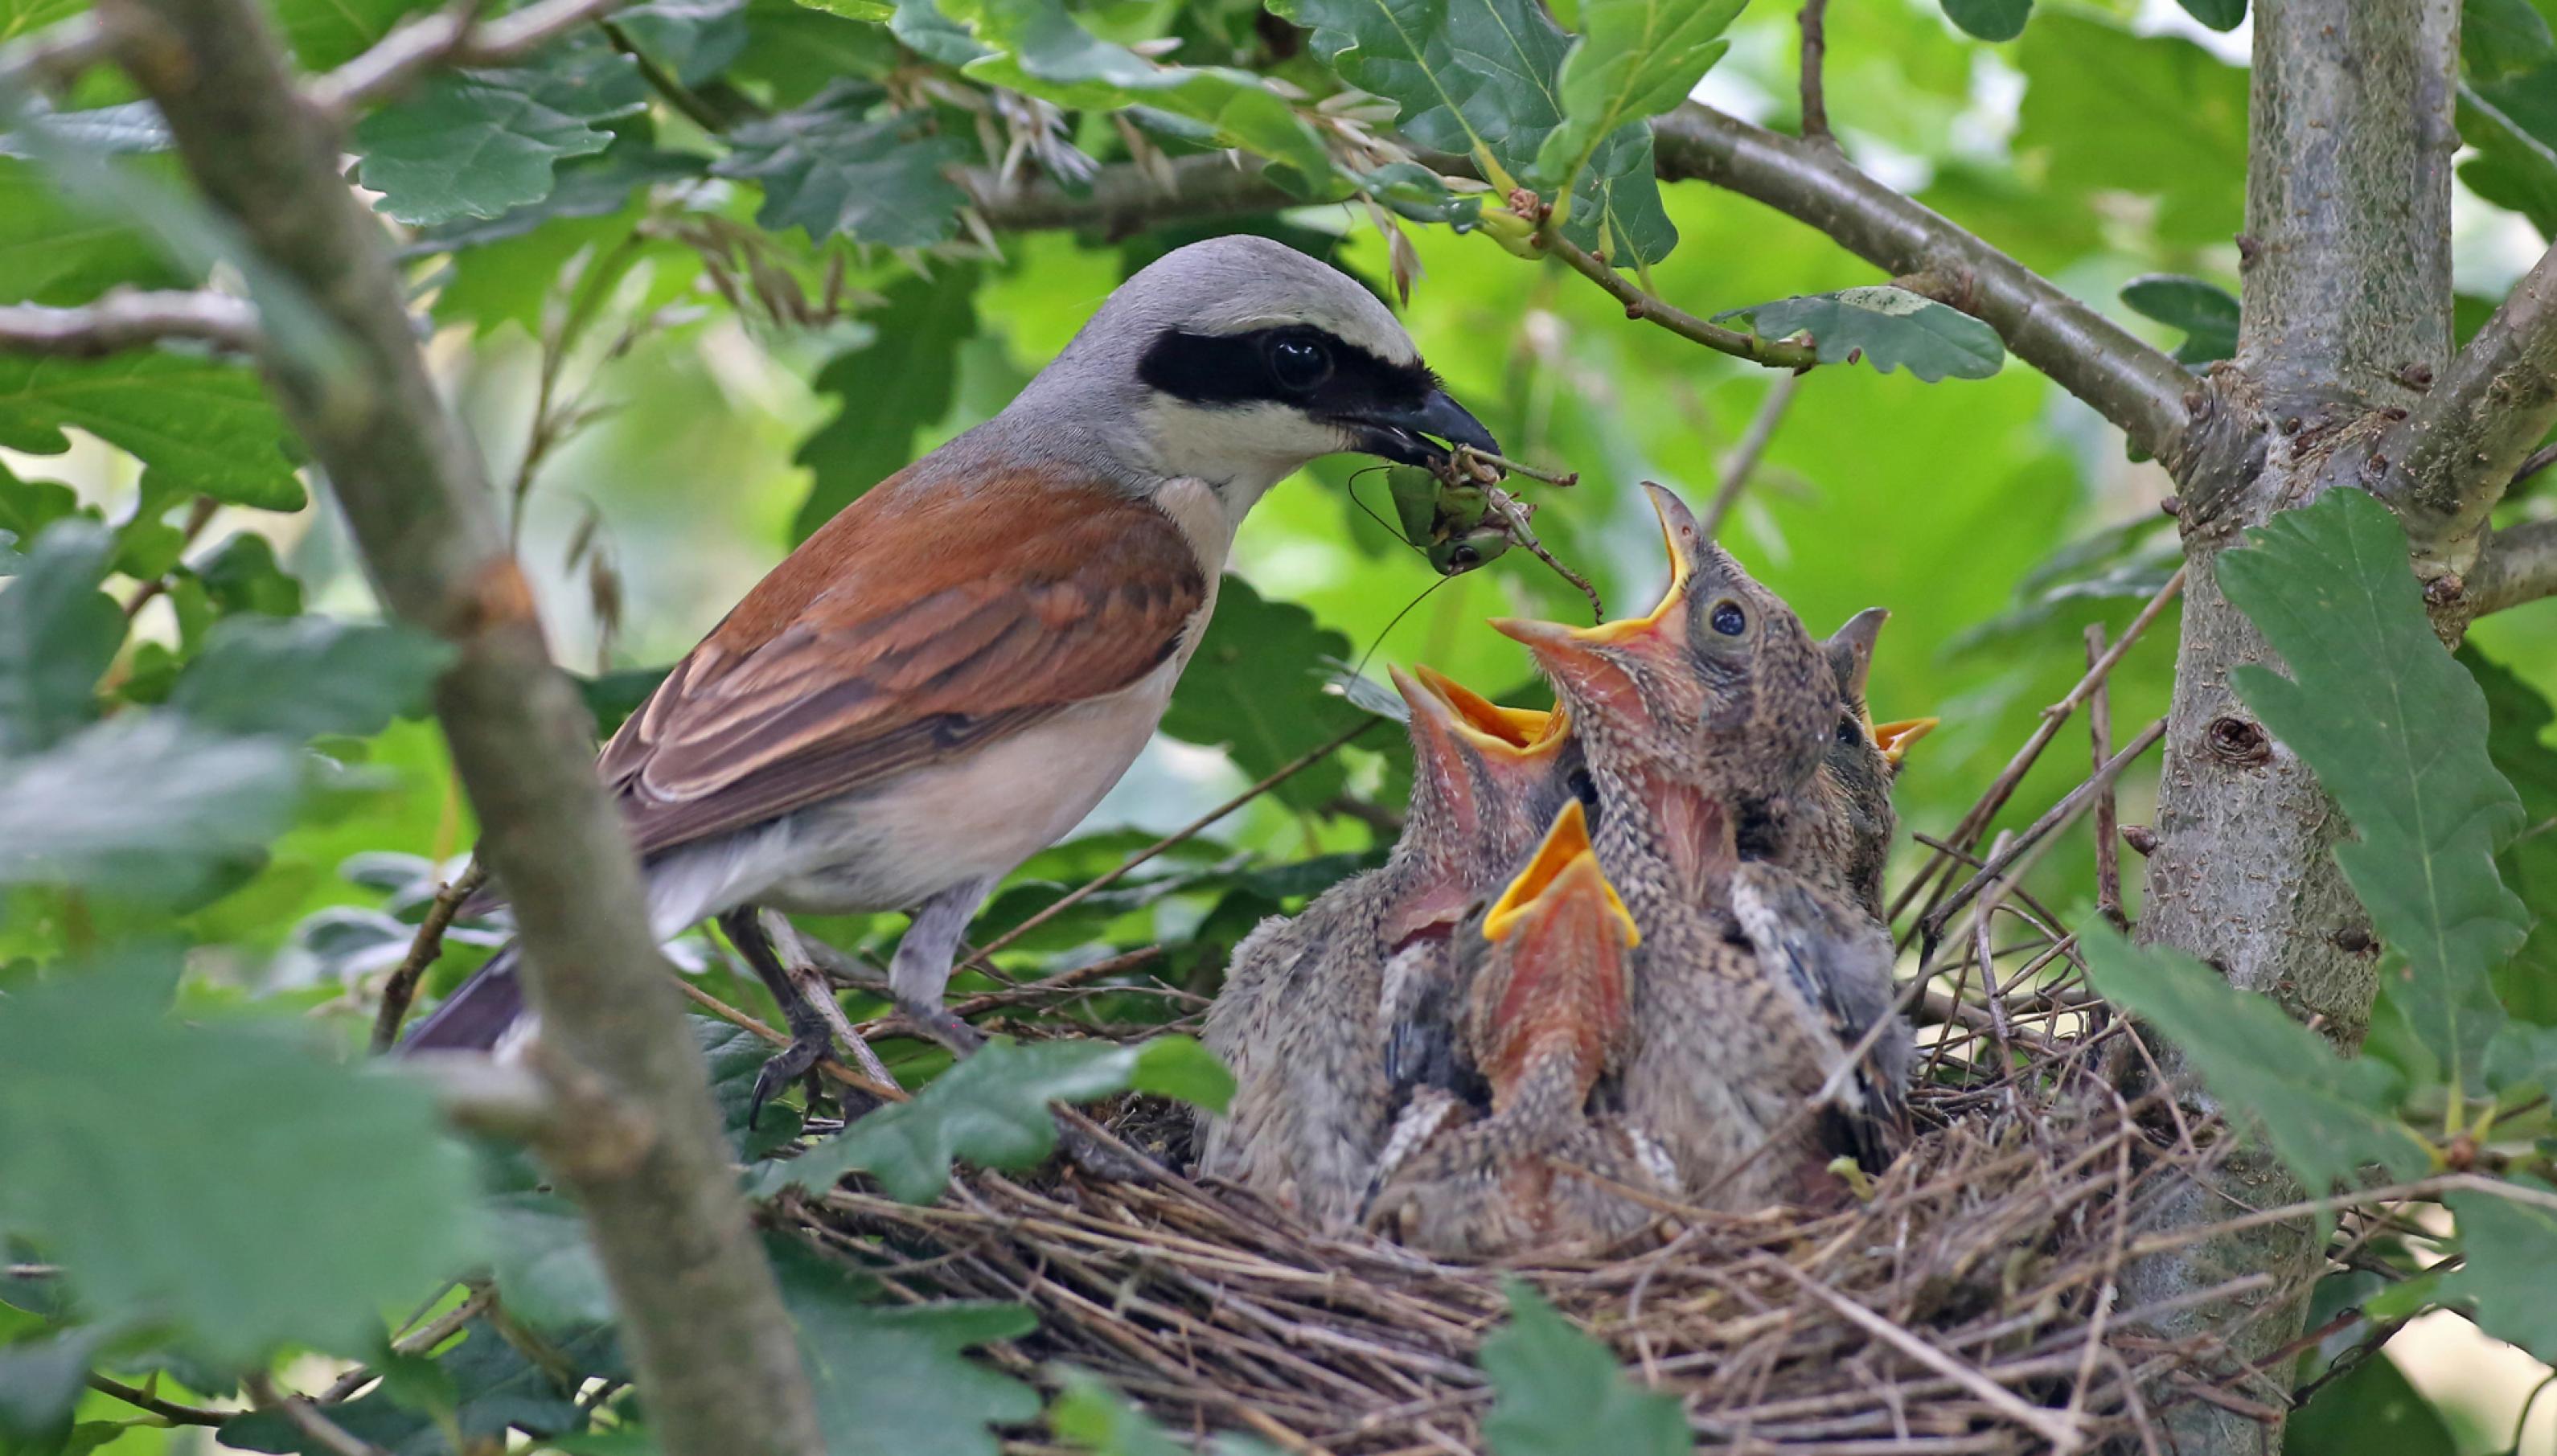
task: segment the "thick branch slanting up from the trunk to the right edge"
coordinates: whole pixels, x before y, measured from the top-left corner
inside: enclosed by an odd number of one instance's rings
[[[2373,494],[2462,540],[2557,425],[2557,248],[2514,284],[2432,392],[2381,438]],[[2378,461],[2373,461],[2378,466]]]

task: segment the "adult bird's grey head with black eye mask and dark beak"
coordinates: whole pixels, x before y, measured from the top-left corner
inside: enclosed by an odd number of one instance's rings
[[[1250,507],[1317,455],[1442,466],[1498,453],[1358,279],[1255,235],[1209,238],[1133,274],[1007,415],[1087,440],[1092,463],[1202,479]]]

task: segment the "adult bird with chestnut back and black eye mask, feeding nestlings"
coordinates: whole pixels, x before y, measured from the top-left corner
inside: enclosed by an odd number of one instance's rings
[[[1314,455],[1498,450],[1365,287],[1266,238],[1146,266],[1000,415],[844,507],[621,724],[598,770],[649,924],[716,916],[790,1016],[757,1103],[826,1052],[757,908],[913,911],[898,1008],[941,1006],[987,890],[1117,783],[1217,604],[1235,527]],[[494,1047],[514,952],[407,1039]]]

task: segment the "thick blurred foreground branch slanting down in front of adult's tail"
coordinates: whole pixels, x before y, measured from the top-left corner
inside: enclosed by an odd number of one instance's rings
[[[542,1016],[529,1064],[573,1116],[609,1103],[637,1131],[603,1128],[611,1149],[547,1162],[586,1208],[657,1443],[670,1456],[816,1456],[790,1320],[593,775],[593,722],[550,663],[478,448],[427,376],[389,238],[338,174],[340,136],[302,100],[258,0],[100,8],[205,194],[338,333],[327,368],[312,351],[271,348],[268,384],[345,507],[384,606],[458,647],[435,709],[478,809],[481,855],[517,906]],[[560,15],[537,5],[517,18],[537,10]]]

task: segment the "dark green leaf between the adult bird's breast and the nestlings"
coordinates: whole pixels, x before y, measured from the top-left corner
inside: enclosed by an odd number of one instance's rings
[[[1217,614],[1171,691],[1163,732],[1222,747],[1245,775],[1266,778],[1363,722],[1365,714],[1322,691],[1327,658],[1350,658],[1350,640],[1317,627],[1304,606],[1268,601],[1240,576],[1227,576]],[[1289,806],[1317,809],[1345,786],[1348,770],[1335,755],[1271,793]]]

